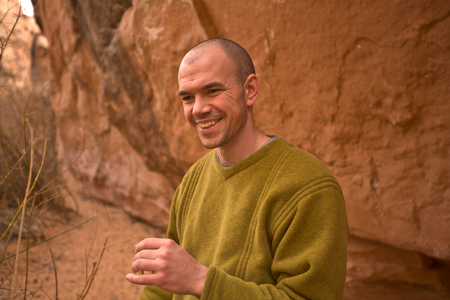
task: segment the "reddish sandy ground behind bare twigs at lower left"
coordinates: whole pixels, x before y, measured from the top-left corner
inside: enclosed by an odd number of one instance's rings
[[[95,216],[83,225],[29,249],[26,298],[31,298],[31,293],[35,293],[35,299],[76,299],[92,269],[92,261],[96,260],[99,261],[98,269],[85,299],[138,299],[142,286],[131,284],[125,279],[125,274],[130,272],[134,244],[145,237],[163,237],[165,233],[133,219],[117,207],[102,206],[92,200],[77,200],[75,204],[75,210],[57,212],[47,209],[41,214],[42,227],[47,237],[73,228],[92,215]],[[30,239],[30,244],[44,238],[43,234],[34,236]],[[99,259],[104,245],[106,247]],[[21,247],[24,246],[23,242]],[[15,247],[14,240],[11,240],[6,247],[7,254],[14,253]],[[0,299],[11,298],[7,288],[11,287],[12,261],[8,259],[0,265],[3,282]],[[23,290],[24,253],[20,255],[19,261],[19,281]]]

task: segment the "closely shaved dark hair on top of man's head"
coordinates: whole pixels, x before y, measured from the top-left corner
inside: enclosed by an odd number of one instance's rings
[[[192,64],[205,52],[219,47],[232,61],[236,73],[236,82],[243,85],[248,75],[255,74],[253,62],[247,51],[239,44],[224,38],[212,38],[200,42],[190,49],[183,58],[183,62]]]

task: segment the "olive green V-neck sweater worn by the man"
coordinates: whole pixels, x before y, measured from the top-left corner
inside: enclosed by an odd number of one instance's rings
[[[201,300],[342,298],[341,188],[317,158],[283,138],[228,167],[215,151],[192,165],[173,197],[167,237],[209,267]],[[141,299],[164,295],[147,286]]]

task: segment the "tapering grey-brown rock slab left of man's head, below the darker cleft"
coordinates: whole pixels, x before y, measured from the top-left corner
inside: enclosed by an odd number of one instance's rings
[[[172,187],[176,187],[182,170],[177,167],[159,131],[150,105],[152,95],[145,94],[141,79],[123,51],[117,35],[105,48],[102,59],[105,70],[99,101],[108,113],[109,120],[142,154],[147,167],[166,174],[173,183]]]

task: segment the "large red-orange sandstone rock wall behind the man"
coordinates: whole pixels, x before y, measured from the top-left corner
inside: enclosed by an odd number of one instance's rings
[[[321,159],[346,199],[345,299],[450,297],[450,2],[33,0],[49,41],[61,167],[165,226],[206,153],[176,74],[210,37],[260,79],[256,125]]]

